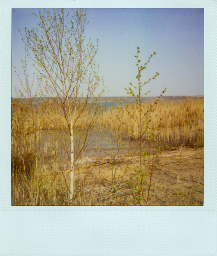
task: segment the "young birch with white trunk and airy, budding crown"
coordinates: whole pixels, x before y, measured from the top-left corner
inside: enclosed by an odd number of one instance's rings
[[[44,95],[51,97],[62,109],[62,116],[67,121],[71,142],[69,203],[72,203],[74,183],[73,129],[79,116],[94,107],[100,96],[94,97],[100,83],[94,61],[97,48],[84,36],[88,23],[86,10],[71,12],[70,15],[64,9],[39,10],[38,15],[33,13],[38,19],[37,27],[25,28],[22,34],[27,54],[39,73]]]

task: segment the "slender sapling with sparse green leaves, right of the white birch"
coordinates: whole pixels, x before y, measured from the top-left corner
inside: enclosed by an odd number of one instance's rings
[[[158,72],[152,77],[149,78],[147,81],[142,81],[142,72],[144,69],[146,69],[147,63],[150,62],[153,55],[156,55],[156,52],[151,54],[147,62],[145,62],[144,65],[140,64],[141,60],[139,59],[139,47],[137,46],[137,55],[135,55],[135,58],[137,58],[137,68],[138,68],[138,74],[136,76],[138,80],[138,85],[134,86],[132,83],[130,83],[130,86],[128,88],[125,88],[127,93],[134,97],[135,99],[135,110],[132,112],[132,108],[127,108],[128,116],[133,122],[135,123],[135,127],[137,129],[137,135],[134,134],[131,135],[131,132],[129,131],[129,135],[134,138],[134,140],[138,141],[139,145],[139,169],[135,170],[138,173],[138,176],[136,176],[134,179],[130,178],[127,183],[129,184],[129,187],[131,188],[132,195],[134,198],[135,204],[141,204],[141,199],[143,199],[146,203],[146,205],[149,204],[149,193],[150,189],[152,187],[152,174],[154,172],[155,168],[155,144],[157,145],[157,150],[160,149],[159,143],[160,141],[157,141],[156,138],[159,135],[158,130],[161,128],[161,120],[157,127],[151,127],[151,115],[150,113],[155,111],[155,106],[157,105],[159,99],[162,97],[163,93],[166,91],[166,89],[162,92],[162,94],[155,99],[155,102],[150,105],[150,108],[145,109],[143,108],[143,101],[142,97],[144,95],[147,95],[149,92],[143,92],[143,87],[149,83],[152,79],[157,78],[159,75]],[[136,115],[137,114],[137,115]],[[153,159],[152,159],[152,168],[151,171],[147,171],[146,166],[144,165],[144,162],[146,160],[146,155],[148,152],[144,150],[144,146],[146,143],[149,142],[149,144],[153,143]],[[147,181],[147,178],[150,177],[149,181]],[[146,192],[144,192],[144,187],[146,187]]]

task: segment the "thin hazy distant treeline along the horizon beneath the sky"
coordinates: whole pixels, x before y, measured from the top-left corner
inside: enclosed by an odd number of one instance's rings
[[[144,102],[153,102],[155,101],[155,99],[158,97],[142,97],[142,101]],[[185,101],[188,99],[192,99],[192,98],[204,98],[204,96],[163,96],[160,98],[159,101]],[[16,98],[13,98],[16,99]],[[21,101],[26,101],[26,99],[28,98],[19,98],[19,100]],[[84,100],[86,98],[84,97]],[[50,97],[35,97],[32,98],[33,102],[40,102],[40,101],[52,101],[52,98]],[[82,97],[81,97],[81,101],[82,101]],[[94,98],[90,98],[89,102],[94,101]],[[100,97],[98,99],[98,102],[115,102],[115,101],[119,101],[119,102],[134,102],[135,98],[131,97],[131,96],[119,96],[119,97]]]

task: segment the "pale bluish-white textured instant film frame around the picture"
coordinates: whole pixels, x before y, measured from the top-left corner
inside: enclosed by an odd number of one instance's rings
[[[204,8],[204,206],[11,206],[11,9]],[[217,255],[216,13],[208,1],[1,2],[0,255]]]

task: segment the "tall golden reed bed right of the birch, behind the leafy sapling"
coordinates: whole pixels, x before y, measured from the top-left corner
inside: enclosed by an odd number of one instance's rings
[[[143,103],[142,114],[150,109],[150,103]],[[193,147],[203,147],[204,143],[204,99],[195,98],[178,102],[159,102],[154,106],[154,112],[149,112],[147,119],[150,121],[150,129],[159,128],[158,140],[163,143],[178,146],[185,144]],[[129,115],[133,114],[133,118]],[[121,117],[121,118],[120,118]],[[146,118],[146,116],[145,116]],[[144,118],[144,120],[146,120]],[[107,130],[117,131],[131,138],[138,139],[139,136],[139,113],[135,104],[119,109],[104,112],[101,126]],[[146,129],[146,122],[142,130]],[[153,131],[156,132],[156,129]],[[149,138],[146,138],[149,140]]]

